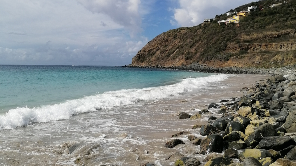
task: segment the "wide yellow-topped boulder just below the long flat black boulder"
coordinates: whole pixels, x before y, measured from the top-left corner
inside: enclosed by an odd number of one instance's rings
[[[242,162],[246,157],[254,157],[260,160],[266,157],[272,157],[272,155],[265,149],[245,149],[239,154],[239,160]]]

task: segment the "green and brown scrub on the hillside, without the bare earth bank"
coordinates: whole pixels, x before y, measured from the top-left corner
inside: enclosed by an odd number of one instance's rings
[[[294,32],[296,27],[296,1],[282,2],[284,1],[261,0],[230,10],[241,11],[246,10],[248,6],[260,6],[251,11],[251,15],[244,18],[239,26],[234,23],[219,25],[217,21],[231,17],[222,14],[217,15],[216,20],[212,22],[164,32],[140,50],[133,63],[164,64],[182,59],[182,64],[188,65],[193,62],[228,61],[231,57],[242,58],[251,52],[244,49],[228,50],[232,45],[241,48],[244,44],[252,43],[295,42],[295,36],[291,36],[290,32]],[[282,5],[269,8],[274,3]],[[276,51],[257,53],[264,56],[279,54]],[[296,59],[295,51],[280,54]]]

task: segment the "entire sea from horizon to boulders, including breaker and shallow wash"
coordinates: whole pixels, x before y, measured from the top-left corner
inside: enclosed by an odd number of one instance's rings
[[[252,81],[184,70],[0,65],[0,165],[165,166],[173,152],[204,158],[198,147],[163,147],[181,130],[200,136],[190,130],[197,121],[176,114],[195,114]]]

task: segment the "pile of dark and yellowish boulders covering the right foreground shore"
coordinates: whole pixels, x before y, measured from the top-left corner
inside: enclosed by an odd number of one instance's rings
[[[242,91],[247,94],[211,103],[195,115],[178,114],[184,120],[209,117],[209,124],[193,126],[206,137],[179,132],[164,146],[184,144],[177,137],[186,136],[199,154],[208,156],[200,161],[175,153],[170,156],[178,159],[175,166],[296,166],[296,73],[276,75]]]

